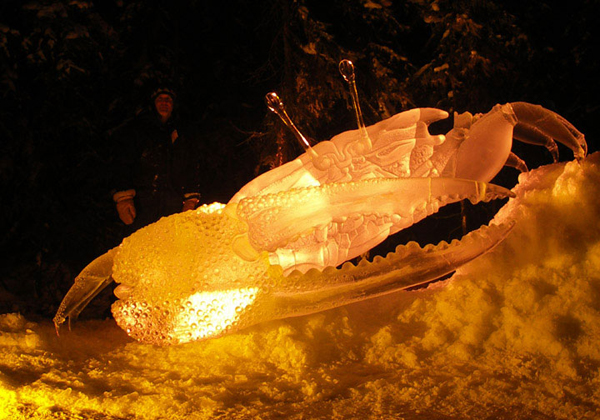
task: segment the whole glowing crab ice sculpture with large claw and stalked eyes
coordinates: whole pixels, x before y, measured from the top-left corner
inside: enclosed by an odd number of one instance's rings
[[[546,146],[555,159],[555,140],[578,159],[587,153],[569,122],[523,102],[455,114],[446,136],[429,133],[430,123],[448,117],[432,108],[365,127],[351,63],[340,70],[352,88],[358,130],[311,148],[279,98],[267,95],[306,153],[252,180],[228,204],[162,218],[94,260],[61,303],[57,331],[113,279],[117,324],[154,344],[217,337],[437,279],[492,249],[512,226],[343,263],[445,204],[511,197],[488,182],[504,165],[526,170],[511,152],[513,137]]]

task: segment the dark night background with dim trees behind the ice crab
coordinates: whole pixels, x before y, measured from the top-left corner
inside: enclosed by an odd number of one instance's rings
[[[3,1],[0,312],[52,315],[77,272],[120,241],[111,133],[158,85],[177,90],[180,117],[199,127],[206,202],[300,152],[267,92],[310,138],[354,128],[342,58],[356,64],[367,124],[523,100],[598,150],[598,2],[495,3]],[[532,167],[550,162],[515,147]]]

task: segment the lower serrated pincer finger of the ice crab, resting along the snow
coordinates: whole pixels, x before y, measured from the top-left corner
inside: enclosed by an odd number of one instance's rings
[[[426,284],[455,271],[485,254],[506,238],[515,223],[482,226],[462,240],[427,245],[400,245],[386,257],[341,268],[293,272],[288,280],[294,288],[274,293],[271,307],[286,316],[298,316],[358,302],[367,298]],[[267,305],[265,305],[267,306]]]

